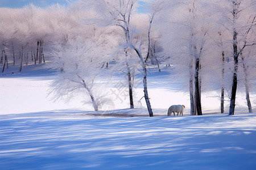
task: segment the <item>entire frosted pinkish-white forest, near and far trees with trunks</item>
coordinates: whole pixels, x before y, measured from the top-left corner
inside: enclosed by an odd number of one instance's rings
[[[143,6],[146,12],[138,10]],[[1,71],[26,65],[56,71],[55,100],[85,92],[94,111],[97,80],[126,76],[134,108],[134,76],[142,74],[144,99],[153,116],[147,68],[172,67],[167,81],[181,81],[190,114],[202,115],[201,92],[218,91],[233,115],[237,92],[248,111],[256,81],[256,2],[253,0],[88,0],[47,8],[0,8]],[[104,85],[102,85],[104,87]],[[226,101],[228,99],[228,101]]]

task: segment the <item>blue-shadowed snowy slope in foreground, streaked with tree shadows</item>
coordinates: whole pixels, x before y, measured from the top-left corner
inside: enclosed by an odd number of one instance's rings
[[[1,169],[255,169],[256,115],[0,116]]]

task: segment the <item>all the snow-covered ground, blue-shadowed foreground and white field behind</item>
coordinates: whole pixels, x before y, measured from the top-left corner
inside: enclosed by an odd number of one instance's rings
[[[236,113],[189,116],[189,96],[168,74],[149,75],[155,117],[148,117],[141,84],[136,109],[122,96],[121,76],[106,90],[100,112],[81,96],[64,103],[48,96],[52,72],[24,67],[0,77],[0,169],[255,169],[256,114],[238,94]],[[27,69],[27,70],[26,70]],[[31,72],[32,70],[32,72]],[[203,113],[218,113],[214,92],[202,95]],[[255,105],[255,94],[251,95]],[[183,117],[166,117],[172,104]],[[226,103],[228,111],[228,103]],[[255,109],[254,109],[255,110]]]

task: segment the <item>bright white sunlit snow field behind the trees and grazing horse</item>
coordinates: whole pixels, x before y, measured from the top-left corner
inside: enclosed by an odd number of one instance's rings
[[[0,90],[2,92],[0,101],[0,114],[10,113],[30,113],[30,112],[51,112],[51,111],[93,111],[90,103],[85,102],[86,97],[76,94],[68,102],[63,100],[51,100],[53,94],[48,94],[49,83],[54,75],[46,70],[35,69],[35,66],[24,67],[23,73],[11,75],[6,73],[0,77]],[[30,73],[31,69],[34,75]],[[155,71],[155,70],[152,70]],[[151,72],[152,72],[151,71]],[[184,114],[190,114],[189,94],[179,90],[180,84],[168,80],[166,73],[151,73],[148,75],[148,94],[150,96],[151,106],[155,115],[167,115],[168,108],[174,104],[185,105]],[[137,84],[134,88],[135,108],[146,108],[143,93],[142,79],[135,76]],[[110,112],[118,109],[129,108],[129,96],[125,85],[125,75],[115,76],[104,88],[99,86],[96,92],[106,94],[105,100],[109,100]],[[121,87],[122,85],[122,87]],[[202,93],[203,113],[220,113],[220,99],[217,92]],[[256,94],[251,94],[251,102],[256,105]],[[86,99],[88,101],[88,98]],[[247,112],[245,94],[237,93],[237,112]],[[108,102],[101,105],[100,111],[109,112]],[[228,112],[229,102],[225,101],[225,111]],[[162,112],[159,113],[159,110]],[[148,115],[146,112],[144,115]]]

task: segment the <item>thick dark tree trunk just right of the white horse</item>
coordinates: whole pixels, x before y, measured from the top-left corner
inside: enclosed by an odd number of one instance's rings
[[[202,114],[202,108],[201,108],[201,97],[200,97],[200,83],[199,83],[199,58],[196,58],[196,72],[195,72],[195,98],[196,98],[196,111],[197,115],[203,115]]]

